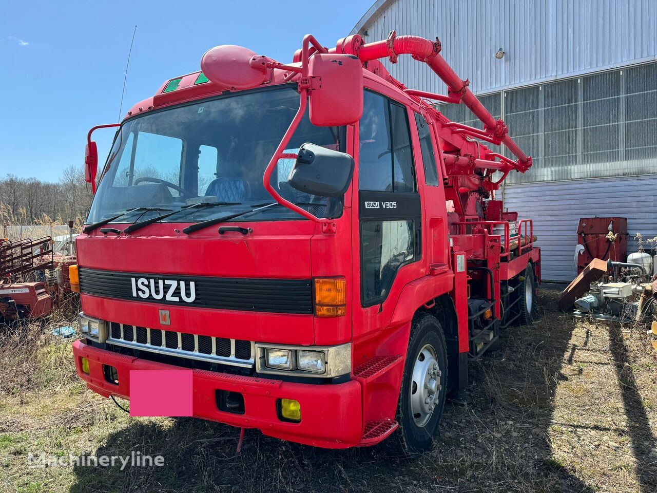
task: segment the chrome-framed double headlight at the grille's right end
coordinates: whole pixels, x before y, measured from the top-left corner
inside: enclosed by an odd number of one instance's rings
[[[348,376],[351,374],[351,344],[269,346],[256,342],[256,371],[315,378]]]

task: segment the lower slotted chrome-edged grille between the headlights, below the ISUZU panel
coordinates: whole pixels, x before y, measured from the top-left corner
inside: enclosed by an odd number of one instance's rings
[[[254,343],[110,322],[108,344],[242,367],[254,364]]]

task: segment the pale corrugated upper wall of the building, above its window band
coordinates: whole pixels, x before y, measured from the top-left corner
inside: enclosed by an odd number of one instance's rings
[[[438,36],[457,74],[487,93],[655,60],[656,18],[655,0],[378,0],[352,33],[366,42],[392,30]],[[384,64],[413,89],[445,91],[408,56]]]

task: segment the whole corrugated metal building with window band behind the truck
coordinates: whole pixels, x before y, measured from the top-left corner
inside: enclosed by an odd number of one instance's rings
[[[532,155],[529,172],[507,178],[506,206],[535,221],[543,278],[570,281],[580,217],[627,217],[629,251],[637,232],[657,236],[655,20],[654,0],[379,0],[353,32],[440,38],[443,57]],[[410,57],[384,63],[409,87],[446,92]],[[463,105],[440,109],[481,128]]]

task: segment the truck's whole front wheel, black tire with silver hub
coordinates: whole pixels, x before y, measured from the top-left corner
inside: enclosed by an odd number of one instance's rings
[[[432,392],[433,390],[433,392]],[[415,456],[431,450],[447,395],[447,347],[440,322],[426,313],[413,318],[404,365],[394,452]],[[426,403],[426,398],[430,403]]]

